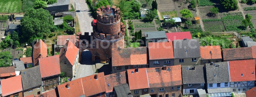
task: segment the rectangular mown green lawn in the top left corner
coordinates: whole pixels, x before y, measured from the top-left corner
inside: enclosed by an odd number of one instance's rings
[[[0,13],[19,13],[21,10],[21,0],[0,0]]]

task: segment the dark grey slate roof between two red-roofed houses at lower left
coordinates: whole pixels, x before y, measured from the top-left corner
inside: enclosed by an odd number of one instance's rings
[[[24,74],[25,73],[25,74]],[[39,66],[28,68],[21,72],[23,90],[42,85]]]

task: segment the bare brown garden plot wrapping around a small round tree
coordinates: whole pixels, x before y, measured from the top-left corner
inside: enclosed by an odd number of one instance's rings
[[[219,14],[216,14],[215,16],[211,16],[210,9],[214,6],[200,6],[200,15],[201,18],[204,19],[220,19]]]

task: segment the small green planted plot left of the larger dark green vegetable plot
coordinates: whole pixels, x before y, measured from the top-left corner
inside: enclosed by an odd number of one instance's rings
[[[222,32],[225,31],[224,25],[220,19],[216,20],[203,20],[205,31]]]

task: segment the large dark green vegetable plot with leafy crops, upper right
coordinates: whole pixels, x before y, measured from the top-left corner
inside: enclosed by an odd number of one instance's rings
[[[241,12],[222,13],[221,20],[227,31],[243,30],[242,20],[243,16]]]

